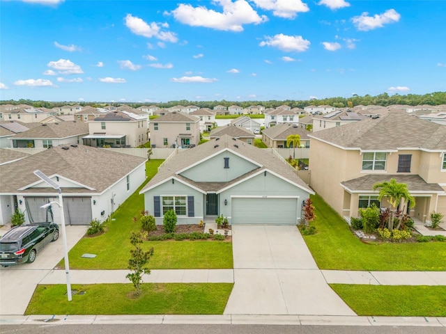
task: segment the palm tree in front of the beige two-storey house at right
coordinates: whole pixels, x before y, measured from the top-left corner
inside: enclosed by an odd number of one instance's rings
[[[390,204],[390,216],[387,221],[387,228],[392,231],[393,220],[397,210],[401,209],[401,212],[406,212],[407,205],[415,207],[415,199],[410,195],[407,184],[398,183],[395,179],[390,179],[390,182],[377,182],[374,184],[374,190],[376,189],[379,189],[378,200],[386,198],[387,202]],[[398,224],[397,229],[399,228],[399,225],[400,223]]]

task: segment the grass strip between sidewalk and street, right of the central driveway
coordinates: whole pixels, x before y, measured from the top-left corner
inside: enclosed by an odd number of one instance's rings
[[[330,284],[362,316],[446,317],[446,286]]]

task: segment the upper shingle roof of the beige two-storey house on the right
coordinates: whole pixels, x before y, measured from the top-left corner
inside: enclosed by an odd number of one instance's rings
[[[388,113],[379,118],[313,132],[311,138],[321,139],[343,148],[362,150],[397,150],[424,148],[446,150],[446,127],[406,113]]]

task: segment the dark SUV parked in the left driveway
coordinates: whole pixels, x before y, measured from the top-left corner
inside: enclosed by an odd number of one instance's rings
[[[0,239],[0,264],[34,262],[36,254],[50,241],[59,239],[55,223],[37,223],[11,228]]]

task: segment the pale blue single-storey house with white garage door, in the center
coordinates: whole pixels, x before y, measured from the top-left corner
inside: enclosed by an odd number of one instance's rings
[[[314,191],[282,157],[224,135],[176,154],[140,193],[157,224],[174,210],[178,224],[296,225]]]

